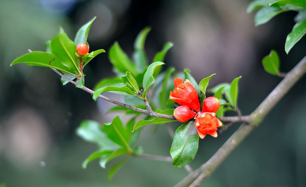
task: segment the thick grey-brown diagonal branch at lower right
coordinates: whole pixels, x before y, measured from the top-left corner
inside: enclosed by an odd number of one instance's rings
[[[196,171],[190,173],[175,187],[195,187],[209,177],[226,157],[241,143],[250,132],[255,129],[280,101],[292,86],[306,73],[306,56],[287,73],[285,78],[272,90],[263,102],[250,115],[250,123],[243,123],[232,136],[218,149],[217,152],[206,163]]]

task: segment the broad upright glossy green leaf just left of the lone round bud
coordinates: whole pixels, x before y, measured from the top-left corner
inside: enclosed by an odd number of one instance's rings
[[[82,74],[79,69],[79,61],[75,55],[76,45],[68,38],[66,33],[57,35],[51,40],[51,50],[73,73],[78,72],[79,75]]]

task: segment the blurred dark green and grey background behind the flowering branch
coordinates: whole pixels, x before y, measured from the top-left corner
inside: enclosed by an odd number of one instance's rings
[[[118,114],[105,114],[114,106],[95,103],[91,96],[62,86],[49,68],[25,64],[10,67],[16,57],[45,50],[44,43],[62,26],[70,39],[77,29],[97,16],[88,36],[92,50],[105,49],[84,73],[86,86],[111,77],[107,51],[114,41],[131,55],[133,41],[151,26],[146,51],[149,59],[166,41],[174,47],[166,67],[189,68],[200,81],[217,73],[210,87],[242,75],[239,107],[249,114],[281,80],[267,74],[261,59],[278,51],[281,70],[289,71],[305,55],[306,40],[285,54],[286,35],[295,13],[283,13],[255,27],[244,0],[1,0],[0,5],[0,184],[7,187],[172,186],[187,175],[171,163],[135,158],[113,178],[98,162],[81,168],[95,145],[75,135],[83,119],[110,122]],[[201,186],[306,186],[306,78],[302,78],[263,123],[233,151]],[[122,101],[121,96],[105,94]],[[122,116],[122,115],[121,115]],[[129,116],[122,116],[128,119]],[[179,124],[172,123],[173,128]],[[195,169],[208,160],[239,124],[218,138],[200,140]],[[146,127],[138,141],[150,154],[170,156],[171,139],[161,126]],[[107,166],[106,166],[107,167]]]

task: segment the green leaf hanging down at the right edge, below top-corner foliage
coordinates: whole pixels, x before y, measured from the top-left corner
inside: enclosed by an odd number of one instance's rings
[[[299,20],[288,34],[285,43],[285,51],[288,54],[293,46],[306,34],[306,19]]]

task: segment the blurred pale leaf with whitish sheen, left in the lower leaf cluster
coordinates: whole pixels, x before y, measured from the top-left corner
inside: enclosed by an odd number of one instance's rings
[[[100,151],[116,150],[118,145],[107,138],[99,122],[84,120],[76,129],[76,134],[85,141],[96,143]]]

